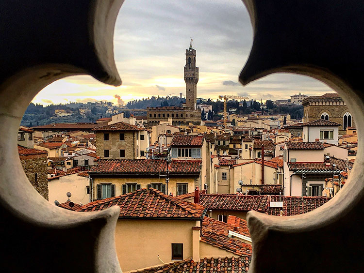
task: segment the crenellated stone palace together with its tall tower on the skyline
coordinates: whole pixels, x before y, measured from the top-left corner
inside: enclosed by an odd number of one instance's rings
[[[174,126],[187,125],[190,122],[197,125],[200,124],[201,112],[197,108],[199,68],[196,66],[196,50],[192,47],[192,41],[190,47],[186,49],[184,81],[186,83],[186,103],[183,104],[183,107],[147,107],[147,121],[149,126],[157,125],[161,121],[168,121],[168,119],[172,119],[172,125]]]

